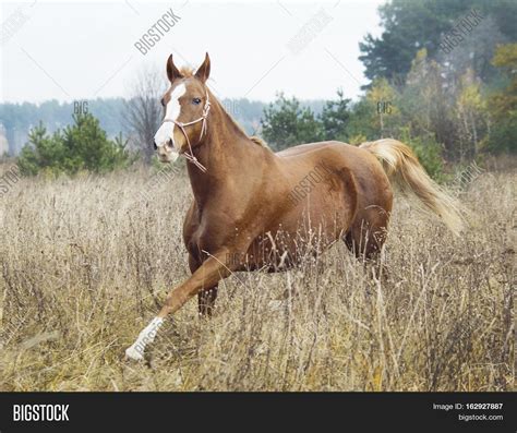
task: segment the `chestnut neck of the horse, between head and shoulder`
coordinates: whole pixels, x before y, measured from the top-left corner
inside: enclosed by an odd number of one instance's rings
[[[257,167],[253,159],[257,157],[258,146],[250,142],[220,105],[208,115],[207,131],[194,156],[206,168],[201,171],[188,161],[189,178],[194,197],[200,207],[204,207],[211,197],[228,188],[229,183],[239,184],[239,179],[253,176]]]

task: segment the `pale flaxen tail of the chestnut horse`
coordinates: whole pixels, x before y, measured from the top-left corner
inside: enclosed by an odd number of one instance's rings
[[[368,142],[360,147],[371,152],[390,180],[405,192],[412,192],[422,204],[437,215],[456,234],[464,227],[460,204],[434,182],[420,165],[417,156],[404,143],[393,139]],[[409,188],[408,188],[409,187]]]

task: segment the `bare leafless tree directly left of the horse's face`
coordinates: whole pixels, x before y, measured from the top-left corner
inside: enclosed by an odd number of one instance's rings
[[[142,69],[130,86],[130,97],[124,104],[124,118],[130,141],[149,163],[153,156],[153,140],[161,120],[160,98],[166,79],[158,68]]]

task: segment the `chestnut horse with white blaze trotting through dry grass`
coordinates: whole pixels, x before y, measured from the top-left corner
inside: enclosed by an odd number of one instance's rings
[[[166,70],[170,86],[154,147],[163,163],[180,155],[188,161],[194,199],[183,241],[192,275],[168,293],[127,349],[130,359],[142,360],[164,320],[195,294],[200,314],[211,315],[218,282],[235,272],[288,269],[302,250],[324,251],[340,239],[358,257],[377,256],[392,212],[392,182],[412,192],[453,232],[461,230],[455,200],[407,145],[393,139],[360,146],[327,141],[274,153],[249,137],[209,91],[208,53],[195,73],[178,70],[172,56]]]

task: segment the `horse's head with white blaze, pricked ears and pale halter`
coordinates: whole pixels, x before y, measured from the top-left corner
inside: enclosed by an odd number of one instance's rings
[[[193,157],[192,148],[200,144],[206,133],[211,106],[205,83],[209,73],[208,53],[195,74],[180,72],[172,61],[172,55],[169,56],[167,76],[170,87],[161,98],[165,116],[154,139],[155,149],[163,163],[175,161],[183,153]]]

